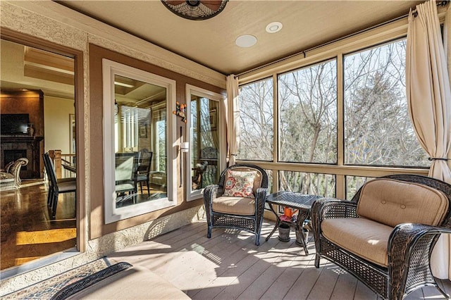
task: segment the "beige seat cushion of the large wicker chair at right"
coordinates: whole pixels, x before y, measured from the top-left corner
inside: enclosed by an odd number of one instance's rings
[[[323,235],[357,256],[388,267],[388,238],[393,227],[365,218],[323,220]]]

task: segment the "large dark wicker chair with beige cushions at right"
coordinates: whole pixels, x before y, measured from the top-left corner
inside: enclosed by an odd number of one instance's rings
[[[366,182],[351,201],[312,206],[315,266],[327,258],[384,299],[435,286],[430,259],[441,233],[451,233],[451,185],[420,175]]]

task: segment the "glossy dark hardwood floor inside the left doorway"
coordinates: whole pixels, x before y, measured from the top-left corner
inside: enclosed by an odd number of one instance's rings
[[[47,194],[42,180],[23,180],[20,189],[0,192],[1,270],[75,246],[75,193],[60,194],[56,220],[49,216]]]

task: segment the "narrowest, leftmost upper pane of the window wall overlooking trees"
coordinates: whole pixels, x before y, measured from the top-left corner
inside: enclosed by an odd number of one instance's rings
[[[240,148],[237,158],[273,160],[273,81],[240,87]]]

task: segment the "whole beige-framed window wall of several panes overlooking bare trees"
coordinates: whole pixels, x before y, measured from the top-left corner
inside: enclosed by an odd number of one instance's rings
[[[240,87],[238,163],[273,170],[275,191],[341,199],[372,177],[426,175],[407,111],[405,37],[327,55]]]

